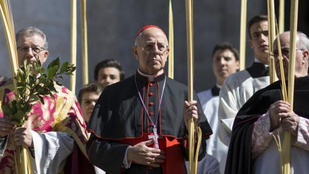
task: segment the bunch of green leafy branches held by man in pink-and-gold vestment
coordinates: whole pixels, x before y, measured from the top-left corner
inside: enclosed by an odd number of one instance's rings
[[[15,77],[18,93],[15,92],[15,100],[2,104],[3,114],[9,117],[16,126],[21,127],[27,120],[32,104],[40,100],[44,104],[44,96],[54,99],[53,93],[57,93],[55,84],[61,86],[63,74],[72,75],[76,67],[68,62],[60,65],[57,57],[49,63],[47,69],[41,67],[39,59],[29,64],[24,61],[23,66],[17,71]]]

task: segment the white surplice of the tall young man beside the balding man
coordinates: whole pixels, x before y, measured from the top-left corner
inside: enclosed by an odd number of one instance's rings
[[[247,69],[231,74],[225,80],[220,90],[218,109],[221,122],[218,135],[225,145],[230,144],[234,118],[239,109],[256,91],[269,84],[269,76],[252,77]]]

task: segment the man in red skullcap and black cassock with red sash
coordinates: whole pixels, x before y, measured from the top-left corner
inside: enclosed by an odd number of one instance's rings
[[[185,174],[188,119],[202,130],[200,159],[211,128],[196,94],[186,102],[187,86],[166,77],[169,48],[161,28],[144,26],[132,50],[138,70],[107,86],[93,110],[89,159],[108,174]]]

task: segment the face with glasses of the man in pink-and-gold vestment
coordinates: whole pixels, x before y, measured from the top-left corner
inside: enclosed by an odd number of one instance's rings
[[[48,56],[48,51],[43,48],[44,40],[41,36],[20,36],[16,40],[18,64],[23,65],[24,60],[28,62],[36,61],[38,58],[43,64]]]

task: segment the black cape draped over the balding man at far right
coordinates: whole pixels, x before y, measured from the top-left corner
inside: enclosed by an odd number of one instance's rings
[[[283,100],[280,81],[257,91],[238,111],[233,124],[225,174],[252,174],[254,161],[251,158],[251,139],[254,122],[278,100]],[[308,104],[309,77],[306,76],[295,80],[293,111],[309,119]]]

